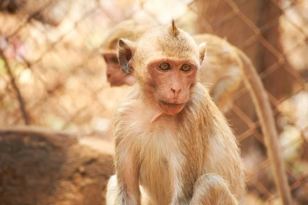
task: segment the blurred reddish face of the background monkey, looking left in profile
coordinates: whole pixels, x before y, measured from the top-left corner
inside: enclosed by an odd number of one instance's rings
[[[107,64],[106,75],[111,87],[132,85],[136,81],[132,74],[122,72],[117,54],[105,53],[103,57]]]

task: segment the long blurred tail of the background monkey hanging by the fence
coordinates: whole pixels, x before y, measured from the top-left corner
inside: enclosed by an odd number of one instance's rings
[[[266,96],[266,91],[251,59],[249,59],[243,51],[238,48],[236,49],[241,60],[243,61],[243,73],[245,76],[244,81],[249,93],[251,93],[251,97],[254,101],[257,115],[260,120],[268,158],[272,165],[276,187],[283,204],[292,204],[290,188],[288,187],[283,159],[279,150],[278,133],[275,126],[273,112]]]

